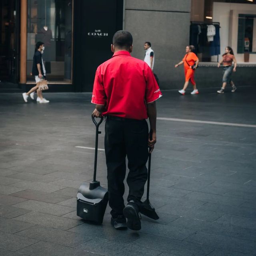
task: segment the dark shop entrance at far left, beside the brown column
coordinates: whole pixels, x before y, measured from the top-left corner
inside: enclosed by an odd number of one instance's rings
[[[18,0],[0,0],[0,80],[18,83]]]

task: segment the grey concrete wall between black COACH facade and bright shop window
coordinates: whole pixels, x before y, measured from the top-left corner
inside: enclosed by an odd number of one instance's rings
[[[174,65],[189,44],[190,0],[126,0],[124,11],[124,29],[134,39],[132,56],[144,59],[144,42],[151,42],[160,88],[182,88],[183,68]]]

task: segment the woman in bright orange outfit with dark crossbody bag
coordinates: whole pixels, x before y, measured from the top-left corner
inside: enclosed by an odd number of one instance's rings
[[[183,60],[175,65],[175,68],[180,66],[184,63],[184,71],[185,71],[185,84],[183,86],[182,90],[179,90],[179,93],[184,95],[186,88],[188,87],[189,81],[193,85],[194,90],[191,92],[191,94],[198,94],[198,90],[196,88],[196,82],[194,79],[194,73],[198,66],[198,58],[194,52],[192,52],[195,49],[193,45],[186,47],[186,55],[184,56]]]

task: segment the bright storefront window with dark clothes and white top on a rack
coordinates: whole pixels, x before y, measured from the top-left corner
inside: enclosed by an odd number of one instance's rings
[[[238,62],[256,62],[255,2],[192,0],[190,44],[202,62],[217,62],[226,46]]]

